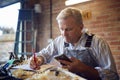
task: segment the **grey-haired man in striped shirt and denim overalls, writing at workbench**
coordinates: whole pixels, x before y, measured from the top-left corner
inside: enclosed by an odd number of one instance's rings
[[[79,9],[68,7],[57,16],[61,35],[37,53],[37,65],[49,63],[55,55],[65,54],[71,61],[59,60],[63,68],[88,80],[118,80],[108,44],[96,35],[84,32]],[[31,68],[36,68],[34,59]]]

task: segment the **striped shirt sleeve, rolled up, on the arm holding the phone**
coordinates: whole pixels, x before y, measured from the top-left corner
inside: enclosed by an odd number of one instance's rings
[[[98,66],[95,69],[98,70],[101,79],[119,80],[115,62],[108,43],[95,36],[91,47],[98,63]]]

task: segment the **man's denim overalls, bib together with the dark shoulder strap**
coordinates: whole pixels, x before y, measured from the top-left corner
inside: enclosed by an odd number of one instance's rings
[[[67,48],[67,46],[68,46],[67,45],[65,47],[64,54],[67,57],[75,57],[76,59],[80,60],[84,64],[91,66],[93,68],[98,66],[97,60],[95,59],[95,57],[92,53],[92,50],[90,49],[92,37],[93,37],[93,35],[88,36],[86,44],[85,44],[86,49],[84,49],[84,50],[71,50],[71,49]],[[76,73],[76,74],[85,77],[84,74],[81,74],[81,73]]]

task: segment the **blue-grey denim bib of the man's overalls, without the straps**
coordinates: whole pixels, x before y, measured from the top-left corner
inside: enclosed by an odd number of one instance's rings
[[[96,67],[98,66],[94,55],[92,54],[92,51],[87,48],[85,50],[66,50],[65,55],[68,57],[75,57],[79,59],[81,62],[84,64],[91,66],[91,67]]]

